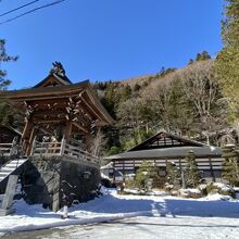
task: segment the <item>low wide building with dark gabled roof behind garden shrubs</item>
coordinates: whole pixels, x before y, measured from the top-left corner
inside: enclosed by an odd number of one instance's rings
[[[106,158],[111,161],[104,167],[104,174],[115,181],[130,178],[142,162],[148,161],[159,167],[159,175],[166,176],[167,163],[174,163],[184,171],[186,155],[193,152],[202,178],[207,181],[221,181],[222,150],[219,147],[207,146],[186,139],[166,131],[160,131],[130,150]]]

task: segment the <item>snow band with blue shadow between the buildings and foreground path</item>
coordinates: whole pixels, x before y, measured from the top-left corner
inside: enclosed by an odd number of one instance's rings
[[[198,200],[169,196],[118,196],[115,190],[109,190],[103,197],[71,207],[67,219],[61,218],[62,212],[53,213],[41,205],[27,205],[20,200],[14,204],[14,215],[1,217],[0,232],[96,224],[136,216],[155,217],[161,226],[178,224],[177,229],[185,222],[192,229],[197,222],[201,222],[209,230],[214,228],[215,223],[222,225],[221,229],[229,230],[239,226],[239,200],[228,199],[218,194]],[[235,231],[235,236],[239,237],[239,230]]]

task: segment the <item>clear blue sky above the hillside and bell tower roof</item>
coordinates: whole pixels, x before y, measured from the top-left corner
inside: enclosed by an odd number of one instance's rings
[[[2,0],[0,14],[29,1]],[[20,56],[1,67],[13,81],[11,88],[34,86],[54,61],[62,62],[73,83],[183,67],[198,52],[207,50],[215,56],[222,49],[223,4],[223,0],[66,0],[0,25],[8,52]]]

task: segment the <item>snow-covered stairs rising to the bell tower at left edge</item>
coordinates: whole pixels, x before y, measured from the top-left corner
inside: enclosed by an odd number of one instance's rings
[[[0,167],[0,184],[5,180],[11,174],[20,173],[20,168],[28,161],[28,158],[16,158],[9,161]]]

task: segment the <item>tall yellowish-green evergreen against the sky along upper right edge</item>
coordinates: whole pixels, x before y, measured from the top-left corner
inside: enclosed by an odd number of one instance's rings
[[[216,73],[225,97],[229,100],[231,120],[239,115],[239,1],[225,0],[225,21],[222,24],[224,49],[216,59]]]

